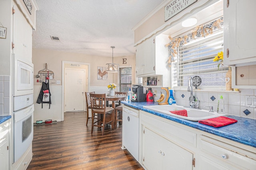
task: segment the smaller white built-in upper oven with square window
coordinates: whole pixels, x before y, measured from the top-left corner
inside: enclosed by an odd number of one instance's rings
[[[33,93],[34,86],[34,64],[28,61],[22,61],[15,57],[14,59],[14,96],[21,96]]]

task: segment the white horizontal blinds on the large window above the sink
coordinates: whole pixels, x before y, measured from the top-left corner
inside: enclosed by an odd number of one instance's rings
[[[176,86],[187,86],[189,76],[200,76],[200,86],[225,86],[227,66],[213,62],[223,50],[223,31],[200,37],[178,48],[178,62],[174,64],[173,78]]]

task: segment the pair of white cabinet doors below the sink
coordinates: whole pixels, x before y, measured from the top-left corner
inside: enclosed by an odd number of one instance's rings
[[[148,170],[192,170],[193,154],[144,128],[143,166]]]

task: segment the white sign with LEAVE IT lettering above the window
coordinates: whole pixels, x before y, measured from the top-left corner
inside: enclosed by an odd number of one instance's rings
[[[167,21],[176,14],[182,12],[182,10],[188,8],[196,1],[197,0],[171,0],[171,2],[164,7],[164,21]]]

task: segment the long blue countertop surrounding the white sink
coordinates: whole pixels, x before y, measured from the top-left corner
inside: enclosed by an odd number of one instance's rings
[[[157,102],[128,102],[128,101],[122,101],[122,104],[126,106],[133,107],[135,109],[140,109],[143,111],[146,111],[148,113],[152,113],[154,115],[169,119],[171,121],[175,121],[178,123],[181,123],[183,125],[187,125],[189,127],[193,127],[196,129],[199,129],[201,131],[205,131],[220,137],[224,137],[226,139],[230,139],[232,141],[236,141],[238,143],[242,143],[244,145],[249,145],[251,147],[256,148],[256,120],[250,119],[246,117],[238,117],[234,115],[229,115],[228,117],[232,119],[236,119],[238,122],[227,125],[224,127],[212,127],[208,125],[203,125],[201,123],[198,123],[198,121],[189,121],[186,119],[181,119],[178,117],[174,117],[171,115],[167,115],[164,113],[160,113],[157,111],[149,110],[146,108],[143,108],[143,106],[152,106],[152,105],[158,105]]]

